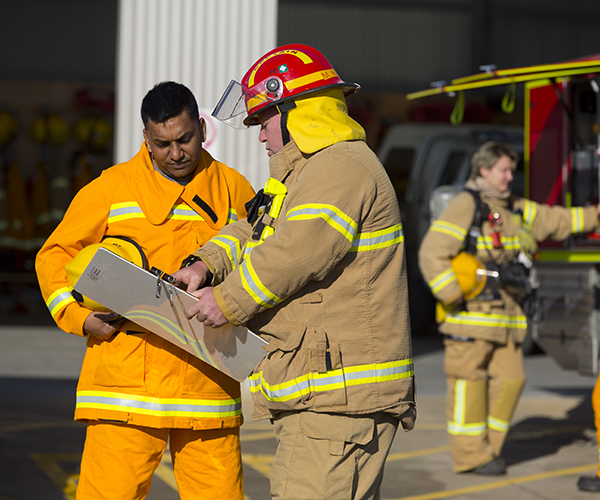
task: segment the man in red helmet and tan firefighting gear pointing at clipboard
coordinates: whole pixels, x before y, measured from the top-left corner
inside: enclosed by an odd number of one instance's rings
[[[256,202],[265,207],[250,208],[175,277],[196,288],[208,268],[212,286],[188,314],[245,324],[269,342],[250,390],[253,419],[271,419],[278,440],[272,497],[379,498],[396,429],[415,418],[393,187],[348,116],[344,95],[358,86],[312,47],[265,54],[237,85],[229,109],[246,98],[245,123],[260,124],[270,156]],[[222,100],[213,115],[225,109]]]

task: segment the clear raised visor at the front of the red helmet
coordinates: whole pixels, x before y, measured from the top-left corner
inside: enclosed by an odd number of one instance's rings
[[[244,120],[248,114],[281,99],[283,90],[283,82],[277,76],[267,78],[250,89],[231,80],[215,106],[212,116],[233,128],[247,128],[248,125],[244,124]]]

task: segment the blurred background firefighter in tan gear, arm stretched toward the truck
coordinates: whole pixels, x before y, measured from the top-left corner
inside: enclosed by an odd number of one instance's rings
[[[432,223],[419,250],[439,301],[454,472],[506,472],[502,446],[525,384],[527,318],[519,304],[530,283],[519,254],[536,240],[563,240],[597,223],[595,206],[550,207],[512,196],[517,159],[503,144],[481,146],[466,190]]]

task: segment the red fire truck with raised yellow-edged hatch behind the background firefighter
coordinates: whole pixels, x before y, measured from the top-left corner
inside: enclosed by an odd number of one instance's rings
[[[556,64],[499,70],[438,83],[407,95],[456,98],[461,121],[464,92],[504,86],[503,109],[514,109],[524,87],[525,196],[565,207],[599,201],[600,54]],[[541,242],[532,268],[538,287],[528,311],[532,335],[567,370],[597,375],[600,351],[600,233]]]

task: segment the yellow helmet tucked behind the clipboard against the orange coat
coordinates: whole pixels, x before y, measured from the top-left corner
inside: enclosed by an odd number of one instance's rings
[[[79,280],[79,277],[83,274],[83,271],[88,266],[94,255],[96,255],[96,251],[99,248],[105,248],[119,257],[122,257],[123,259],[148,270],[148,260],[146,259],[146,255],[144,254],[142,247],[140,247],[135,241],[133,241],[131,238],[127,238],[126,236],[107,236],[103,238],[100,243],[93,243],[85,248],[82,248],[75,258],[65,266],[65,269],[67,270],[67,278],[71,287],[75,286],[77,280]],[[102,304],[99,304],[98,302],[81,295],[75,290],[73,290],[71,293],[77,302],[86,306],[92,311],[110,311]]]

